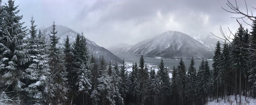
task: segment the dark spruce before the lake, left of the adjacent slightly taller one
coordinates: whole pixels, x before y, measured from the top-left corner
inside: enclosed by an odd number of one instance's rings
[[[187,74],[186,67],[182,59],[177,67],[177,93],[180,97],[180,105],[187,104]]]

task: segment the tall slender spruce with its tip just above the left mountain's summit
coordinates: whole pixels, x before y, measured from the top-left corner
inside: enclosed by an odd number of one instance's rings
[[[64,57],[62,51],[57,44],[59,39],[57,37],[57,32],[55,29],[55,22],[52,24],[52,31],[50,31],[50,48],[49,48],[49,58],[50,58],[50,73],[51,73],[51,83],[54,84],[53,89],[50,89],[54,94],[50,94],[49,102],[53,104],[64,104],[67,99],[67,72],[64,65]]]

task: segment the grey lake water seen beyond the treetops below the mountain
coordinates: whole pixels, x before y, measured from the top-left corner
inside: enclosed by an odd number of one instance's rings
[[[119,57],[120,59],[124,59],[125,62],[129,62],[129,63],[135,63],[135,62],[139,62],[140,57],[139,56],[135,56],[135,55],[125,55],[125,54],[115,54],[117,57]],[[156,59],[156,58],[147,58],[144,57],[144,60],[146,63],[150,64],[150,65],[159,65],[159,62],[161,61],[161,59]],[[198,70],[199,65],[201,63],[202,60],[195,60],[195,67]],[[163,62],[165,63],[166,67],[169,68],[173,68],[173,66],[177,67],[178,64],[180,63],[180,60],[170,60],[170,59],[163,59]],[[190,60],[183,60],[183,62],[185,63],[186,69],[188,69],[189,64],[190,64]],[[212,60],[208,60],[209,62],[209,66],[210,69],[212,69]]]

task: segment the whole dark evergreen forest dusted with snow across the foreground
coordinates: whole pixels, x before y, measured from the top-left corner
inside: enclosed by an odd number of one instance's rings
[[[192,57],[189,67],[181,59],[167,69],[159,60],[155,72],[141,55],[129,72],[125,59],[119,64],[91,55],[83,33],[57,46],[57,23],[49,35],[33,17],[23,27],[14,0],[1,1],[0,104],[205,105],[232,97],[233,105],[245,105],[256,97],[256,20],[251,29],[240,24],[231,42],[216,42],[212,65],[202,59],[196,68]]]

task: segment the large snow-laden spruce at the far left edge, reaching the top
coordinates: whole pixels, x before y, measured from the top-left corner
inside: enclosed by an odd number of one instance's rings
[[[0,84],[1,94],[14,97],[12,100],[21,100],[20,93],[25,85],[25,66],[22,62],[26,46],[26,27],[22,27],[18,6],[13,0],[8,0],[7,5],[0,5]],[[8,98],[7,97],[7,98]],[[6,97],[5,97],[6,98]]]

